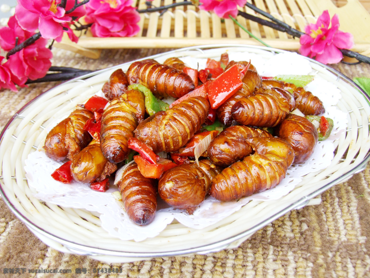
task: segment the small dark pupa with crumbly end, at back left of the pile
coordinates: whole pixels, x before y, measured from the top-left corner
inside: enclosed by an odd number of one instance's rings
[[[127,91],[128,79],[122,69],[117,69],[109,77],[108,81],[104,83],[102,91],[107,99],[110,101],[124,94]]]

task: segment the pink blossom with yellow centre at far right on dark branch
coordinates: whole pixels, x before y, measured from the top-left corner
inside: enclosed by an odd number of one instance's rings
[[[310,58],[315,58],[323,64],[336,64],[343,58],[339,48],[353,47],[353,35],[339,29],[339,17],[334,14],[332,26],[329,28],[330,16],[325,10],[317,19],[316,24],[309,24],[300,37],[299,52]]]

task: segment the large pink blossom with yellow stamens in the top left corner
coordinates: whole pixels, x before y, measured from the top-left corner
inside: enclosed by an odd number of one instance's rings
[[[38,28],[43,38],[58,42],[62,39],[63,28],[70,30],[70,22],[85,14],[82,6],[66,14],[73,8],[74,0],[67,0],[65,9],[60,6],[61,0],[18,0],[18,3],[15,16],[24,30],[33,32]]]

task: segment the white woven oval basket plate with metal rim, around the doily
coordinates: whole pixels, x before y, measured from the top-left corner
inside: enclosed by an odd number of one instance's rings
[[[148,58],[164,61],[191,54],[195,58],[219,59],[225,51],[249,52],[271,57],[283,50],[245,45],[189,47]],[[334,158],[329,167],[307,174],[286,196],[277,200],[253,200],[231,216],[203,229],[188,228],[176,221],[156,237],[144,241],[120,240],[102,229],[99,214],[84,209],[57,206],[36,199],[27,184],[24,161],[43,145],[44,126],[68,116],[76,104],[84,103],[102,88],[117,68],[127,70],[132,62],[94,72],[65,82],[35,98],[7,123],[0,137],[1,195],[10,209],[44,243],[99,260],[124,262],[151,257],[205,254],[236,247],[255,231],[292,209],[305,206],[317,194],[360,172],[369,160],[369,97],[349,78],[319,62],[305,58],[323,79],[340,89],[337,108],[346,113],[348,128],[334,141]],[[253,61],[252,61],[253,63]]]

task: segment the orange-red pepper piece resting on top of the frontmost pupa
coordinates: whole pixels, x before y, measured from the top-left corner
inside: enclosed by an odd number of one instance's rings
[[[135,155],[134,160],[138,165],[140,173],[144,177],[151,179],[159,179],[168,169],[177,166],[176,163],[173,163],[171,160],[162,157],[159,157],[158,163],[154,164],[149,163],[148,160],[139,155]]]

